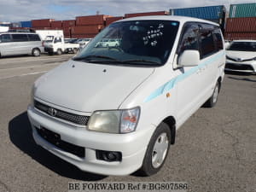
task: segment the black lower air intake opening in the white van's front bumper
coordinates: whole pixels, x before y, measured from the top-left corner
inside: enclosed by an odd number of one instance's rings
[[[85,149],[74,145],[72,143],[67,143],[61,140],[61,136],[53,131],[49,131],[48,129],[45,129],[44,127],[41,127],[41,129],[38,129],[36,127],[36,130],[38,131],[38,135],[42,138],[44,138],[47,142],[55,145],[57,148],[61,148],[62,150],[77,155],[81,158],[84,158],[85,156]]]

